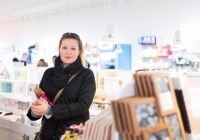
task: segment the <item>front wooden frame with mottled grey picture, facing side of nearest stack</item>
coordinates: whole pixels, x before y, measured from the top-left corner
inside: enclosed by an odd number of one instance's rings
[[[162,124],[155,97],[142,97],[129,100],[129,112],[134,134],[140,135],[149,127]],[[132,132],[133,133],[133,132]]]

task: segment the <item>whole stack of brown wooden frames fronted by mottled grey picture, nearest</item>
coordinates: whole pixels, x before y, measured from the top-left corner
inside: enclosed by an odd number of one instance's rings
[[[139,136],[142,131],[162,123],[155,97],[129,97],[111,102],[116,129]],[[129,129],[128,129],[129,128]]]

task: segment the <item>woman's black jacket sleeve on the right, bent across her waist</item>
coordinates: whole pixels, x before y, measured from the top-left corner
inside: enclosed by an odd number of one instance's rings
[[[90,70],[81,82],[80,93],[76,102],[70,104],[55,104],[51,107],[55,120],[79,117],[88,113],[96,91],[93,72]]]

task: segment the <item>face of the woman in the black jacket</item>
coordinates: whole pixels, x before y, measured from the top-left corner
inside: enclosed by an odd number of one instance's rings
[[[60,49],[60,58],[64,65],[70,65],[78,58],[80,54],[78,41],[76,39],[63,39]]]

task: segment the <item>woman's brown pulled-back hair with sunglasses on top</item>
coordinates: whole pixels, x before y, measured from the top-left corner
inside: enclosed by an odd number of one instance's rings
[[[61,44],[62,44],[62,41],[63,39],[75,39],[78,41],[78,47],[79,47],[79,50],[80,50],[80,58],[81,58],[81,61],[82,61],[82,65],[85,66],[85,57],[84,57],[84,49],[83,49],[83,43],[79,37],[78,34],[76,33],[70,33],[70,32],[67,32],[67,33],[64,33],[60,39],[60,42],[59,42],[59,47],[58,47],[58,52],[59,52],[59,56],[60,56],[60,47],[61,47]]]

